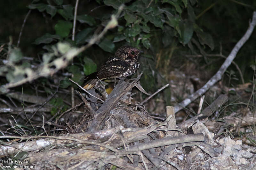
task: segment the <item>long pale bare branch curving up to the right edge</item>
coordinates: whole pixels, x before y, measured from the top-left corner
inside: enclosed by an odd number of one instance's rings
[[[228,66],[231,64],[231,62],[236,57],[236,54],[238,50],[244,45],[244,43],[249,39],[249,37],[252,34],[252,31],[256,25],[256,11],[253,12],[252,16],[252,22],[249,24],[249,28],[247,29],[244,36],[236,43],[235,47],[232,49],[231,53],[228,55],[225,62],[221,65],[218,72],[199,90],[197,90],[195,93],[188,96],[187,99],[180,102],[179,105],[174,107],[175,113],[180,111],[182,108],[186,107],[188,104],[190,104],[192,101],[194,101],[198,96],[203,95],[212,85],[214,85],[216,82],[218,82],[222,75],[227,70]]]

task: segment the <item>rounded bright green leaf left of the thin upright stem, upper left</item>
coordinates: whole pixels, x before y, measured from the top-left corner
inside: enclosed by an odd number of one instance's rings
[[[58,20],[58,23],[54,26],[56,34],[60,35],[62,38],[68,37],[71,28],[72,23],[64,20]]]

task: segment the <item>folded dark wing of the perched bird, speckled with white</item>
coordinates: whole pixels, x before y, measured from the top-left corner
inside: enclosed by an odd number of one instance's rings
[[[118,58],[112,58],[101,66],[98,71],[98,78],[117,78],[119,75],[122,75],[127,69],[128,64]]]

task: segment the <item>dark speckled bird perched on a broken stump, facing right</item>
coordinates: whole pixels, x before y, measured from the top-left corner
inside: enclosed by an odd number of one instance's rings
[[[94,87],[97,81],[106,78],[126,78],[131,76],[140,67],[139,55],[144,51],[132,46],[118,48],[115,55],[100,67],[100,70],[84,78],[85,90]]]

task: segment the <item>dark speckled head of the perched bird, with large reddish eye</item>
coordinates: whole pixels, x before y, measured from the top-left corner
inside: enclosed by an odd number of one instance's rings
[[[123,58],[124,60],[127,60],[127,59],[138,60],[140,53],[144,53],[144,51],[132,46],[123,46],[116,50],[115,56]]]

